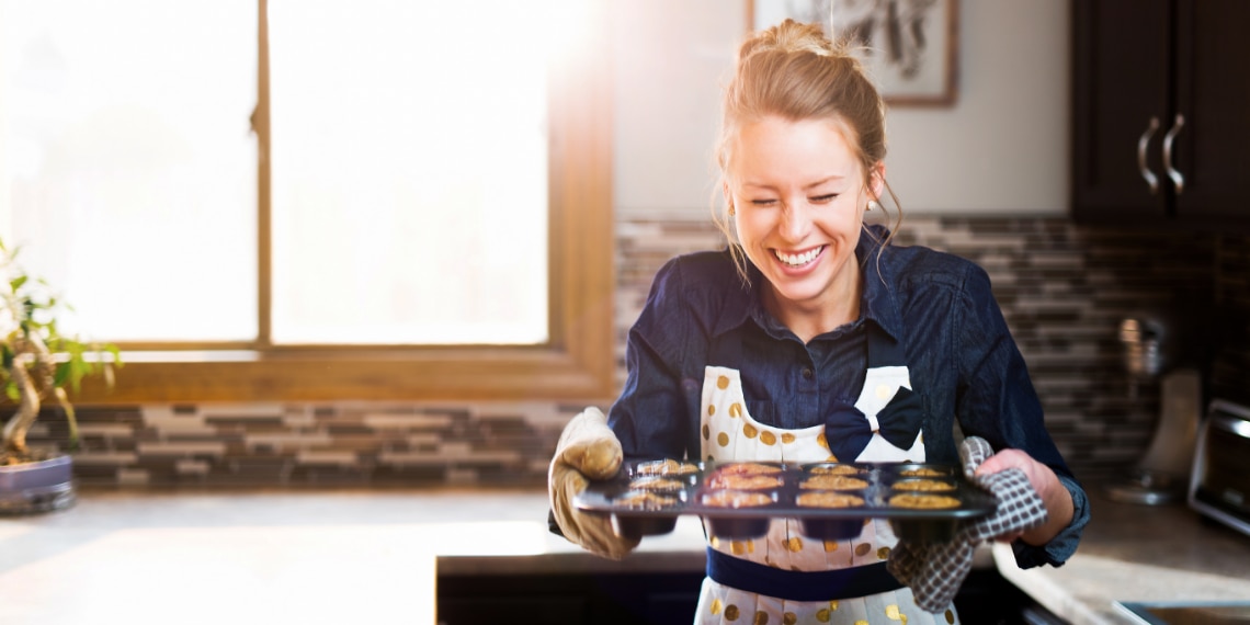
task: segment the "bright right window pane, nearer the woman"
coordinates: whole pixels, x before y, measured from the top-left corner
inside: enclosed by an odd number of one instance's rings
[[[270,4],[275,344],[546,341],[546,59],[568,15]]]

